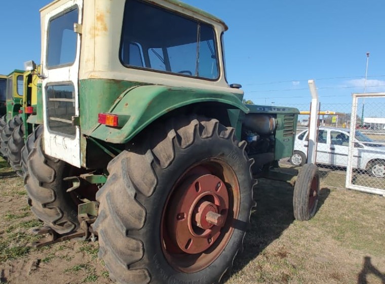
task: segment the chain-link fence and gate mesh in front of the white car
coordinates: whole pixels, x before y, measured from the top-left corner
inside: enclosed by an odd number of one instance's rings
[[[294,155],[282,159],[282,167],[299,167],[307,160],[309,114],[305,112],[310,111],[310,105],[291,107],[302,114],[298,116]],[[354,189],[357,189],[355,186],[365,186],[385,192],[385,97],[365,98],[365,101],[360,98],[354,117],[356,119],[352,119],[351,101],[343,104],[323,104],[321,101],[316,161],[322,183],[345,188],[348,187],[348,177]],[[356,132],[353,134],[353,148],[349,147],[351,128]],[[349,153],[353,158],[350,167]],[[374,159],[373,156],[378,157]],[[383,159],[379,158],[382,156]]]

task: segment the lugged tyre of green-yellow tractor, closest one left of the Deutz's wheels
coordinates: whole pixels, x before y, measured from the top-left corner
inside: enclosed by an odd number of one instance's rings
[[[15,130],[13,130],[8,140],[8,161],[13,170],[16,171],[19,176],[23,176],[23,172],[21,170],[21,149],[24,147],[24,133],[25,128],[22,123],[16,127]]]

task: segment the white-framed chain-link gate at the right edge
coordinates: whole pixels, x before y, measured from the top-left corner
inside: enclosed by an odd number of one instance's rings
[[[353,94],[346,188],[385,196],[385,93]]]

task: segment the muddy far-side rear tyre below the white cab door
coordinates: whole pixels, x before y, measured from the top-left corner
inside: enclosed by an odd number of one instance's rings
[[[70,187],[63,178],[70,174],[70,165],[46,155],[38,136],[27,160],[28,172],[25,189],[28,203],[36,217],[59,234],[79,227],[78,208],[66,190]]]

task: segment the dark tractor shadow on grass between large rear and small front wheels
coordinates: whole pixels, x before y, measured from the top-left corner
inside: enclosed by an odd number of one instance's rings
[[[317,211],[329,194],[328,188],[320,190]],[[254,200],[257,206],[250,217],[251,224],[243,242],[244,251],[234,261],[232,274],[239,272],[255,259],[294,221],[293,187],[288,183],[260,179],[254,187]]]

